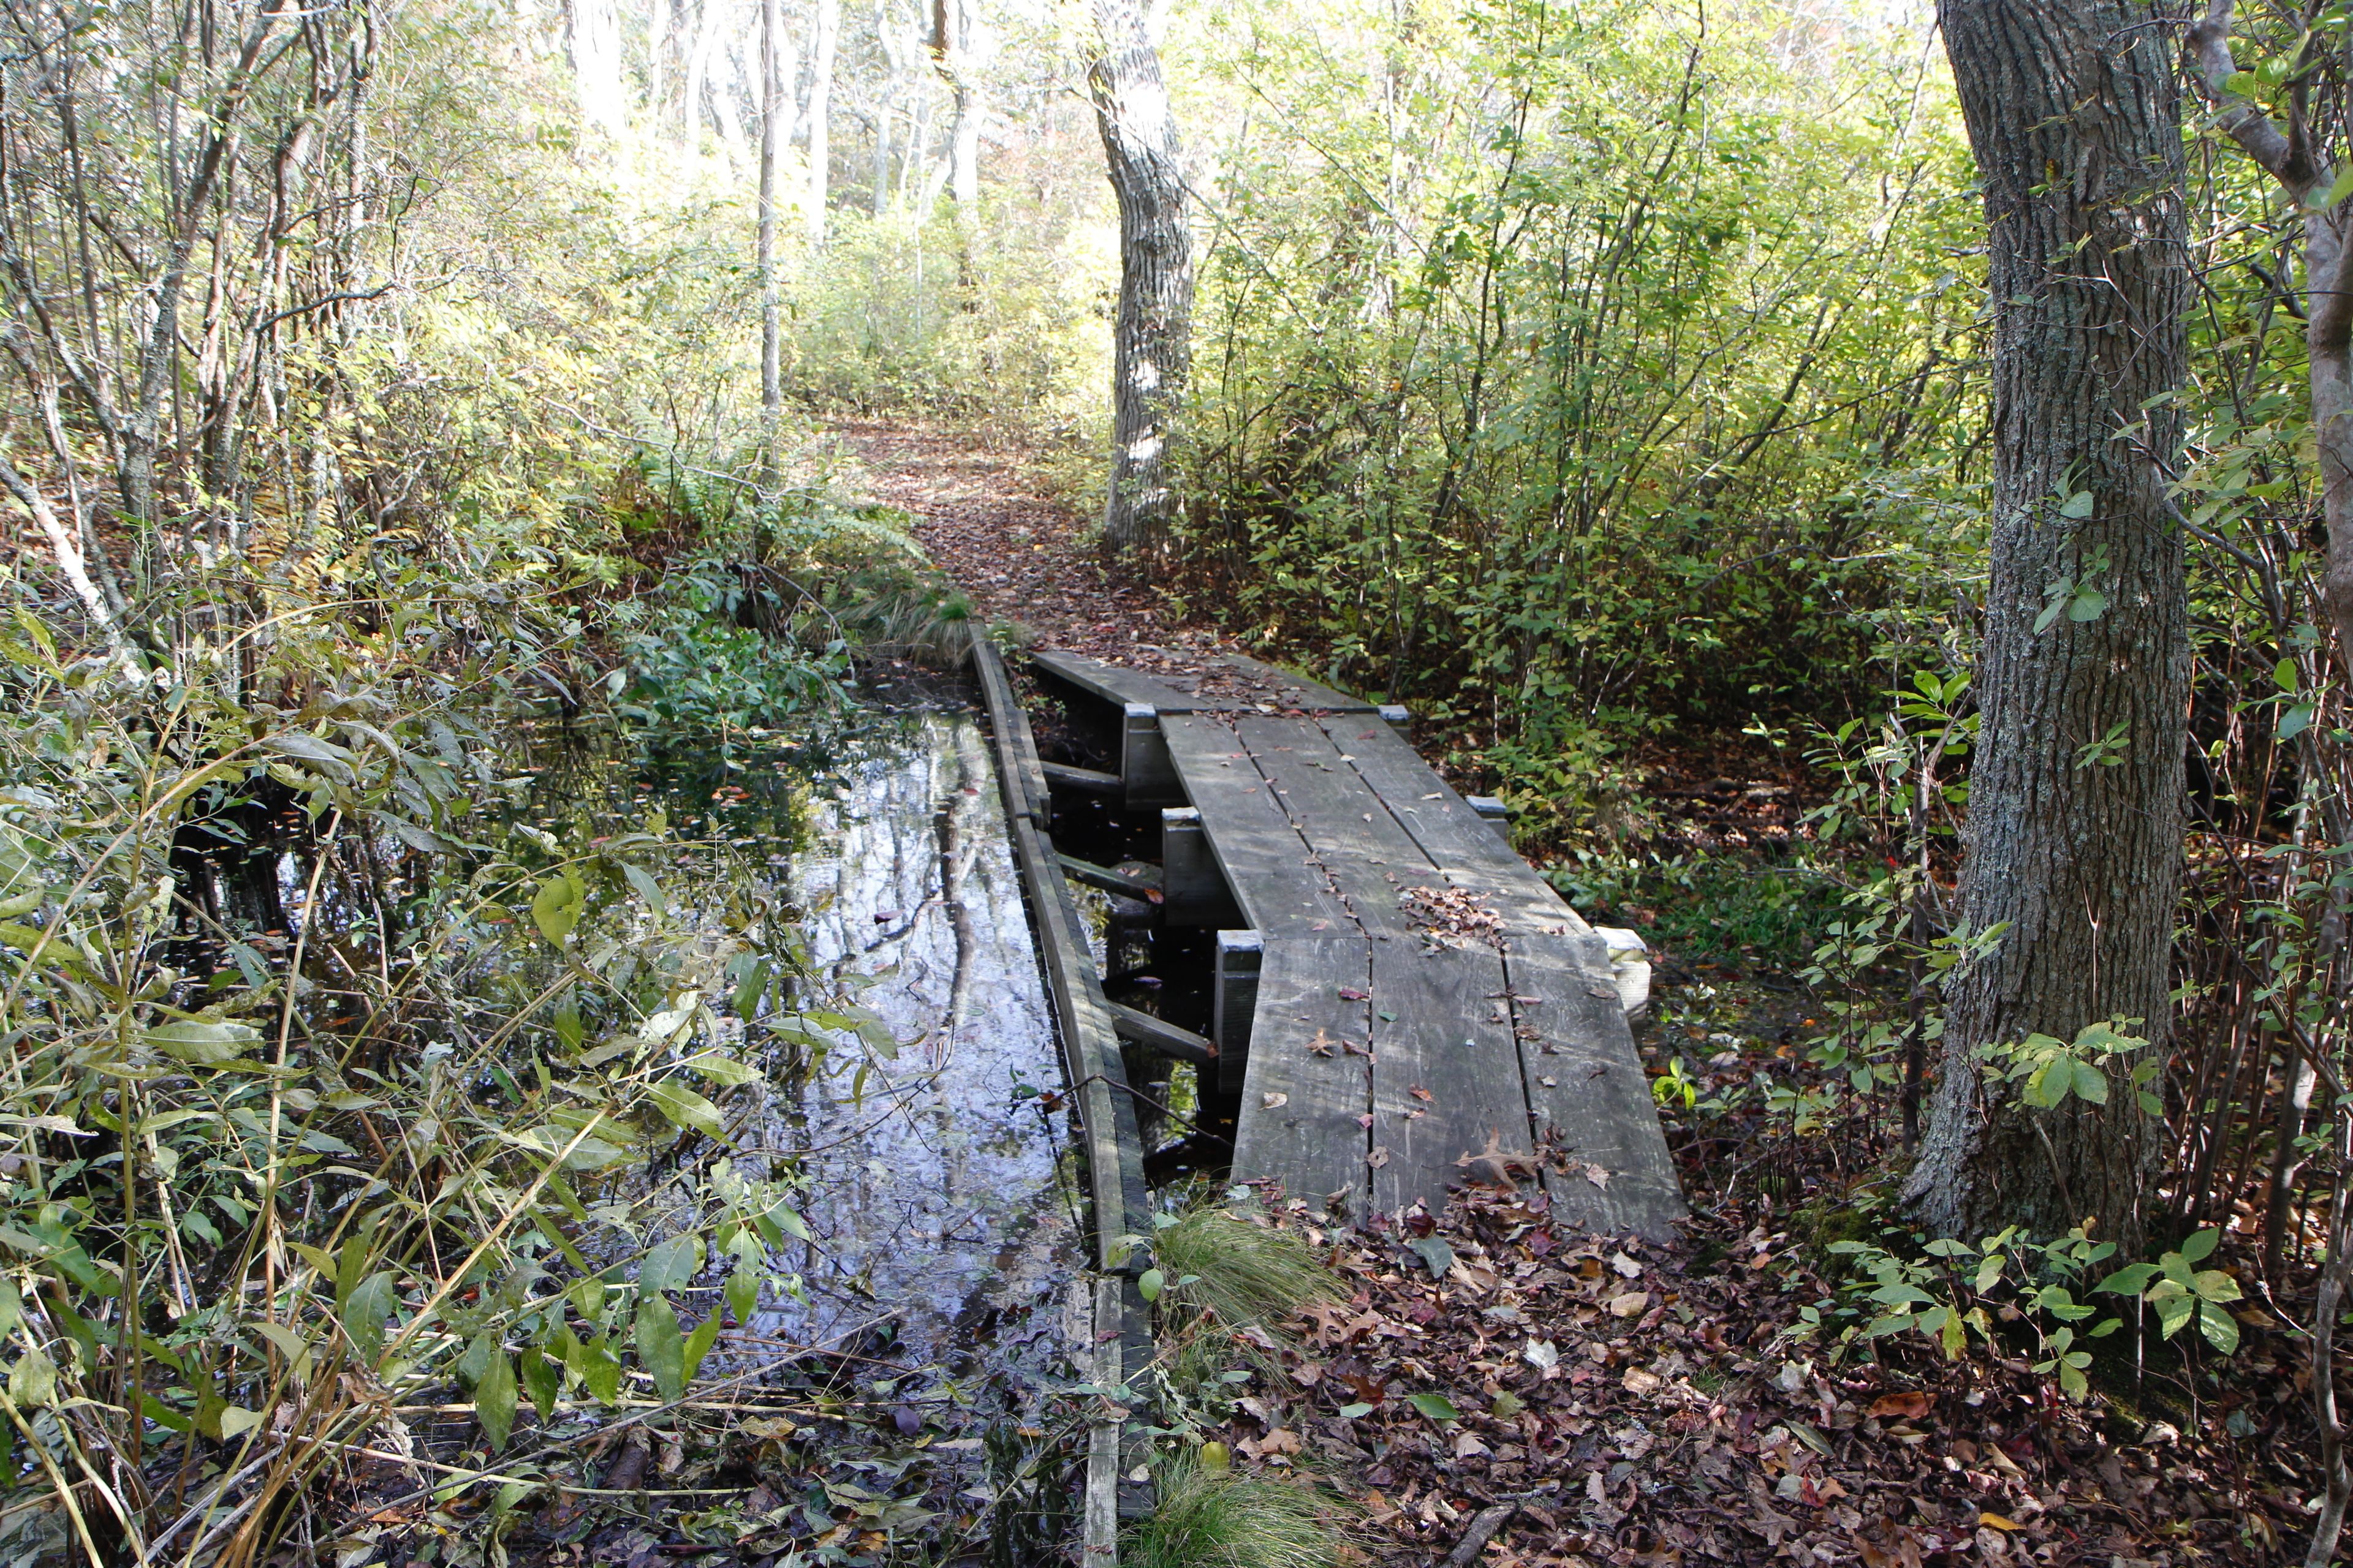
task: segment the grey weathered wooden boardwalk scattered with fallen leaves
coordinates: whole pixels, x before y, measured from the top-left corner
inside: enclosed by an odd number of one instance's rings
[[[1162,917],[1214,926],[1233,1175],[1348,1218],[1506,1171],[1558,1213],[1659,1234],[1685,1211],[1607,943],[1386,710],[1233,658],[1155,677],[1033,651],[1118,717],[1118,771],[1064,788],[1162,816]]]

